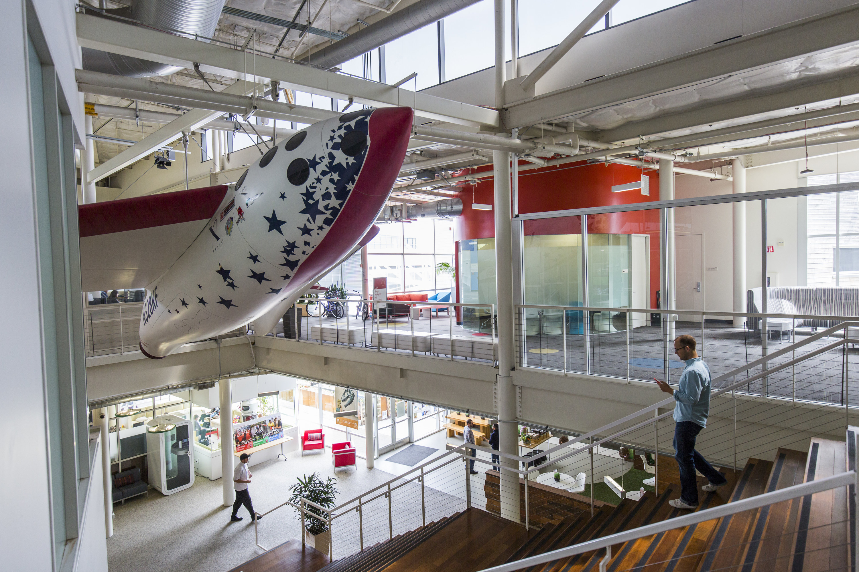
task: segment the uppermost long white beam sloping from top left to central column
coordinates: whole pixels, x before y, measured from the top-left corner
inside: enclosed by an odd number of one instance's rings
[[[427,93],[415,93],[376,81],[336,74],[299,63],[234,50],[131,26],[106,18],[78,14],[77,37],[82,47],[109,51],[124,56],[142,57],[154,62],[192,68],[199,63],[204,72],[236,79],[280,81],[281,87],[298,89],[338,99],[353,98],[356,103],[387,107],[408,105],[420,117],[472,127],[497,127],[498,112],[479,105],[468,105]]]

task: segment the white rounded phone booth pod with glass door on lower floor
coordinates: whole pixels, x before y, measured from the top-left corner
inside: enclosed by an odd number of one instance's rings
[[[149,485],[162,495],[172,495],[193,485],[191,421],[175,415],[160,415],[147,425]]]

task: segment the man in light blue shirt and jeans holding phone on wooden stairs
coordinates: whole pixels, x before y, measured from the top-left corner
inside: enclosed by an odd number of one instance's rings
[[[707,426],[707,417],[710,415],[710,368],[703,359],[698,358],[698,352],[695,351],[697,345],[698,342],[691,335],[681,335],[674,340],[674,353],[686,362],[677,389],[654,378],[659,388],[672,394],[676,401],[674,458],[680,470],[680,497],[668,501],[675,509],[698,508],[696,469],[709,481],[701,487],[706,492],[716,491],[728,483],[728,479],[695,450],[695,438]]]

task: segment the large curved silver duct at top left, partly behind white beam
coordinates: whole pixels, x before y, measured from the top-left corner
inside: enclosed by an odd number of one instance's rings
[[[131,19],[143,26],[210,38],[226,0],[134,0]],[[201,40],[207,41],[207,40]],[[120,56],[107,51],[82,49],[83,69],[126,77],[170,75],[182,69],[168,63],[150,62],[139,57]]]

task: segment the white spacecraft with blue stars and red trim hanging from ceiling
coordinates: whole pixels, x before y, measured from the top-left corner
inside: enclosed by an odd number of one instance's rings
[[[408,107],[353,111],[279,142],[232,189],[80,206],[83,289],[145,286],[140,349],[149,358],[248,322],[268,333],[378,232],[411,120]],[[125,242],[156,252],[121,256]]]

